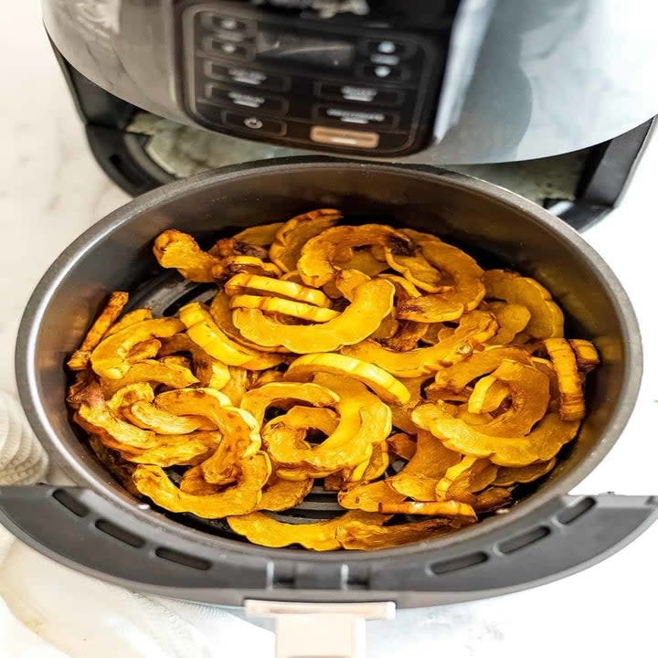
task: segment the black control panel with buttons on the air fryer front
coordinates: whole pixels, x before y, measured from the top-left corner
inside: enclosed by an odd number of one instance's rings
[[[211,130],[382,156],[430,140],[444,66],[430,39],[221,3],[181,18],[186,110]]]

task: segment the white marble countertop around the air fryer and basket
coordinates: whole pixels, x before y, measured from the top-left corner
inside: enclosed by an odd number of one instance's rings
[[[9,3],[7,3],[9,5]],[[9,16],[6,16],[7,10]],[[3,7],[0,21],[0,387],[15,390],[13,349],[20,314],[39,277],[91,223],[128,200],[93,161],[40,25],[37,2]],[[18,27],[16,29],[16,26]],[[578,493],[658,493],[658,303],[653,140],[621,207],[586,239],[600,251],[636,306],[645,345],[637,409],[610,456]],[[569,578],[500,599],[405,612],[371,627],[387,655],[426,649],[451,658],[569,653],[613,656],[631,646],[654,654],[655,614],[643,601],[658,583],[658,524],[630,547]],[[84,601],[80,601],[83,605]],[[0,608],[0,654],[8,614]],[[570,646],[569,646],[570,645]],[[27,644],[26,644],[27,646]],[[18,655],[54,655],[36,649]]]

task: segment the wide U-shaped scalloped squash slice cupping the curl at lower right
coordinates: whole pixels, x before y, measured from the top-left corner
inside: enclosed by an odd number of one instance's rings
[[[454,418],[443,402],[421,405],[411,415],[422,429],[429,430],[453,451],[485,457],[499,466],[527,466],[546,462],[578,433],[576,420],[566,421],[549,412],[525,436],[491,436],[463,419]]]

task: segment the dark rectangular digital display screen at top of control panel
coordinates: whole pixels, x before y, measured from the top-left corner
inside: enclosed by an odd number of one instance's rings
[[[260,58],[328,69],[348,69],[354,61],[355,50],[355,46],[347,41],[299,37],[270,30],[263,30],[256,37],[256,54]]]

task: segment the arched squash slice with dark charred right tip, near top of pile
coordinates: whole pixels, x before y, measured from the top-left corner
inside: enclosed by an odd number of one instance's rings
[[[319,288],[340,269],[335,261],[345,249],[387,245],[394,252],[411,253],[411,240],[383,224],[327,228],[302,247],[297,270],[306,285]]]

